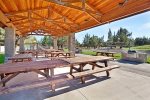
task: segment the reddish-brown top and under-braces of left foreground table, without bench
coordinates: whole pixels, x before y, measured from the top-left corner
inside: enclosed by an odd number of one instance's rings
[[[68,65],[69,63],[60,59],[44,60],[44,61],[31,61],[20,63],[6,63],[0,65],[0,84],[5,86],[5,83],[17,76],[20,73],[36,72],[46,78],[49,77],[49,69],[53,71],[54,68]],[[44,70],[42,72],[41,70]]]

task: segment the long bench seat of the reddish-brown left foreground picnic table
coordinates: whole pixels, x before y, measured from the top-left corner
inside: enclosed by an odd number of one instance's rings
[[[61,83],[67,80],[70,80],[70,79],[66,75],[57,75],[55,77],[48,78],[48,79],[30,81],[30,82],[15,84],[15,85],[8,86],[8,87],[1,87],[0,94],[12,93],[16,91],[31,89],[31,88],[43,87],[47,85],[52,86],[52,89],[53,89],[52,91],[55,91],[55,87],[53,87],[55,86],[55,84]]]

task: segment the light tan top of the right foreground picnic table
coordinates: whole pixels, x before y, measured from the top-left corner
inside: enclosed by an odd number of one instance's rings
[[[63,59],[63,58],[62,58]],[[63,59],[70,64],[80,64],[80,63],[88,63],[88,62],[97,62],[97,61],[108,61],[113,59],[113,57],[106,57],[106,56],[86,56],[86,57],[74,57]]]

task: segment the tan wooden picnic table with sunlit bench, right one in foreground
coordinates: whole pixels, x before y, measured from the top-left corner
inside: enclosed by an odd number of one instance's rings
[[[109,70],[113,68],[118,68],[116,65],[108,66],[108,61],[112,60],[113,57],[105,57],[105,56],[87,56],[87,57],[74,57],[74,58],[68,58],[64,59],[65,61],[70,63],[70,75],[69,77],[81,77],[82,83],[85,83],[85,79],[82,76],[87,76],[90,74],[98,73],[98,72],[103,72],[106,71],[107,76],[109,76]],[[98,65],[97,63],[101,62],[104,65]],[[87,65],[90,64],[92,65],[92,71],[84,71],[83,68]],[[79,65],[79,68],[76,68],[75,66]],[[98,67],[98,70],[94,70],[95,67]],[[104,68],[107,67],[107,68]],[[73,74],[73,70],[76,70],[77,72],[80,73],[75,73]],[[83,72],[84,71],[84,72]]]

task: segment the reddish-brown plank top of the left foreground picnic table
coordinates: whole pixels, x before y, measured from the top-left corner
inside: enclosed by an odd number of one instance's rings
[[[0,64],[0,74],[42,70],[45,68],[51,69],[66,65],[69,65],[69,63],[61,59],[20,62],[20,63],[5,63]]]

